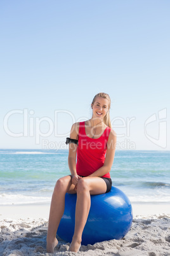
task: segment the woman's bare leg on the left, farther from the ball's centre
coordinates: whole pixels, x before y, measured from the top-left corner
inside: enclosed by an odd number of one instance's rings
[[[56,239],[56,231],[65,208],[65,194],[67,192],[74,192],[75,186],[72,185],[71,180],[71,176],[65,176],[56,181],[49,212],[46,245],[46,252],[48,253],[53,253],[55,246],[58,244],[58,240]]]

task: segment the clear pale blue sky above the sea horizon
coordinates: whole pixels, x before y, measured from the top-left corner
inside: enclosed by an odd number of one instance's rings
[[[118,149],[170,150],[169,8],[152,0],[1,1],[0,148],[65,142],[72,122],[91,118],[95,94],[107,92]],[[9,134],[24,125],[25,135]]]

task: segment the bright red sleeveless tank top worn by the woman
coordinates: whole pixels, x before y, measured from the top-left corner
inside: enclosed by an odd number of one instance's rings
[[[107,126],[100,138],[89,138],[86,135],[85,122],[80,122],[76,163],[76,171],[79,176],[89,176],[103,166],[110,131],[111,128]],[[103,177],[110,178],[110,173]]]

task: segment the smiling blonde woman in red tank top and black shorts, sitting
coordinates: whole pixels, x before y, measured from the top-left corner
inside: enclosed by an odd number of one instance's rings
[[[46,246],[49,253],[53,253],[58,244],[56,231],[65,208],[65,194],[77,193],[75,229],[69,251],[78,252],[91,205],[90,195],[107,193],[112,187],[110,169],[114,162],[116,134],[111,129],[108,94],[96,94],[91,108],[91,119],[73,124],[70,138],[67,138],[71,175],[56,181],[49,213]]]

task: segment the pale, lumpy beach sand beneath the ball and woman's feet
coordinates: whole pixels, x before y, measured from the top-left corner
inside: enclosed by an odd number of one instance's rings
[[[170,213],[168,204],[132,204],[133,224],[121,240],[81,246],[68,252],[60,239],[54,255],[169,255]],[[0,256],[50,255],[46,253],[49,204],[0,206]]]

